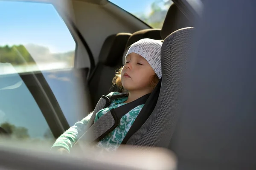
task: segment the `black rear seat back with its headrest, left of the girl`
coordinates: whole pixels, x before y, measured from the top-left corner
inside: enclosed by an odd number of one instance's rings
[[[107,95],[117,68],[122,66],[122,56],[130,33],[118,33],[106,38],[93,73],[89,78],[89,90],[93,108],[102,95]]]

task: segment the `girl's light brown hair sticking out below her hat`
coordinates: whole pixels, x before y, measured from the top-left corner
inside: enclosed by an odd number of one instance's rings
[[[122,82],[121,82],[121,71],[122,71],[122,68],[119,68],[117,71],[116,71],[116,75],[115,77],[113,78],[113,85],[116,85],[117,88],[118,88],[118,91],[121,92],[121,93],[128,93],[128,91],[122,86]],[[159,78],[157,76],[157,74],[154,74],[154,76],[152,76],[152,79],[151,79],[151,82],[150,82],[150,86],[152,89],[154,89],[156,86],[157,86],[157,83],[159,82]]]

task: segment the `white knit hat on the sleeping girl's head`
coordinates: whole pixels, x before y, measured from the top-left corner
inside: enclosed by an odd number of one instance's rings
[[[162,77],[160,57],[161,47],[162,42],[160,40],[144,38],[131,45],[125,55],[125,59],[131,53],[141,55],[148,61],[149,65],[151,65],[154,72],[157,74],[157,77],[160,79]]]

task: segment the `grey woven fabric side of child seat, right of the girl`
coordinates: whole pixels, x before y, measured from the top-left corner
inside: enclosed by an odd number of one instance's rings
[[[180,93],[184,68],[191,53],[193,33],[194,28],[183,28],[164,40],[161,49],[163,77],[157,105],[127,144],[169,146],[181,110]]]

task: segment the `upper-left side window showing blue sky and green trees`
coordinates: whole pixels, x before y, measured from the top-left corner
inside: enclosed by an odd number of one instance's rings
[[[18,73],[73,67],[76,42],[52,4],[0,1],[0,16],[0,62]]]

